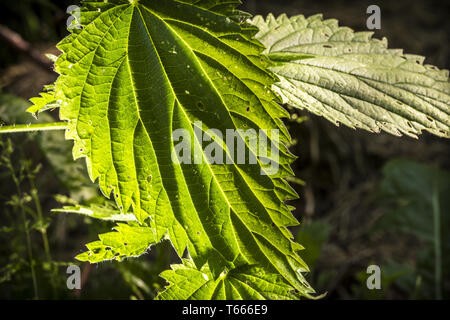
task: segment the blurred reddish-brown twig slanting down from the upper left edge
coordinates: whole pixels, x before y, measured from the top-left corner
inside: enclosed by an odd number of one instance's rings
[[[33,62],[44,68],[46,71],[52,72],[53,63],[51,61],[45,58],[38,50],[34,49],[29,42],[25,41],[20,36],[20,34],[1,24],[0,39],[3,39],[3,41],[16,51],[28,56]]]

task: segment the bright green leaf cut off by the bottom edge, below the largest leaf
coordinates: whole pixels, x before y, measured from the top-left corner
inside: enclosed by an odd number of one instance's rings
[[[269,274],[257,266],[223,272],[215,279],[209,267],[195,268],[189,260],[172,265],[161,276],[169,282],[158,295],[160,300],[293,300],[298,293],[279,274]]]

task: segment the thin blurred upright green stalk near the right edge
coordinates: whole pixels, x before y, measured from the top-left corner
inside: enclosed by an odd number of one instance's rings
[[[441,248],[441,212],[439,208],[439,192],[436,183],[433,185],[433,197],[431,199],[434,222],[434,255],[435,255],[435,294],[436,299],[442,300],[442,248]]]

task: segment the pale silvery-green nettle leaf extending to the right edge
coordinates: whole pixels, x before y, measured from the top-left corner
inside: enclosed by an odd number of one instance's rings
[[[322,15],[269,15],[251,21],[280,77],[284,102],[338,125],[417,137],[422,130],[450,136],[448,70],[424,57],[388,49],[372,32],[353,32]]]

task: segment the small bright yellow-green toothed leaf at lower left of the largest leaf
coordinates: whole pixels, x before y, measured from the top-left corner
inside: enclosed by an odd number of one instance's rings
[[[100,234],[100,240],[89,243],[87,245],[89,251],[76,258],[91,263],[105,260],[122,261],[129,257],[139,257],[156,243],[156,235],[149,227],[121,223],[114,230],[117,232]]]

